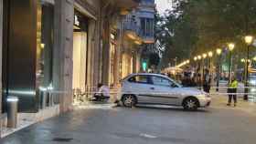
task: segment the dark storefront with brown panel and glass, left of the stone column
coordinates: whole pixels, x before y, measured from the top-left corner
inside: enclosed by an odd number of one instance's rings
[[[5,111],[7,96],[16,96],[19,111],[37,112],[39,87],[51,87],[54,6],[44,0],[3,2],[2,106]]]

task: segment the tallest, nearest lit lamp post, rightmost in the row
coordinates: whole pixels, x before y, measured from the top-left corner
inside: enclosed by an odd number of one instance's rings
[[[249,92],[249,83],[248,83],[248,77],[249,77],[249,71],[248,71],[248,67],[249,67],[249,48],[251,46],[251,43],[253,41],[253,37],[252,36],[245,36],[244,37],[244,41],[245,43],[247,44],[247,59],[246,59],[246,69],[245,69],[245,87],[244,87],[244,96],[243,96],[243,99],[244,100],[248,100],[248,92]]]

